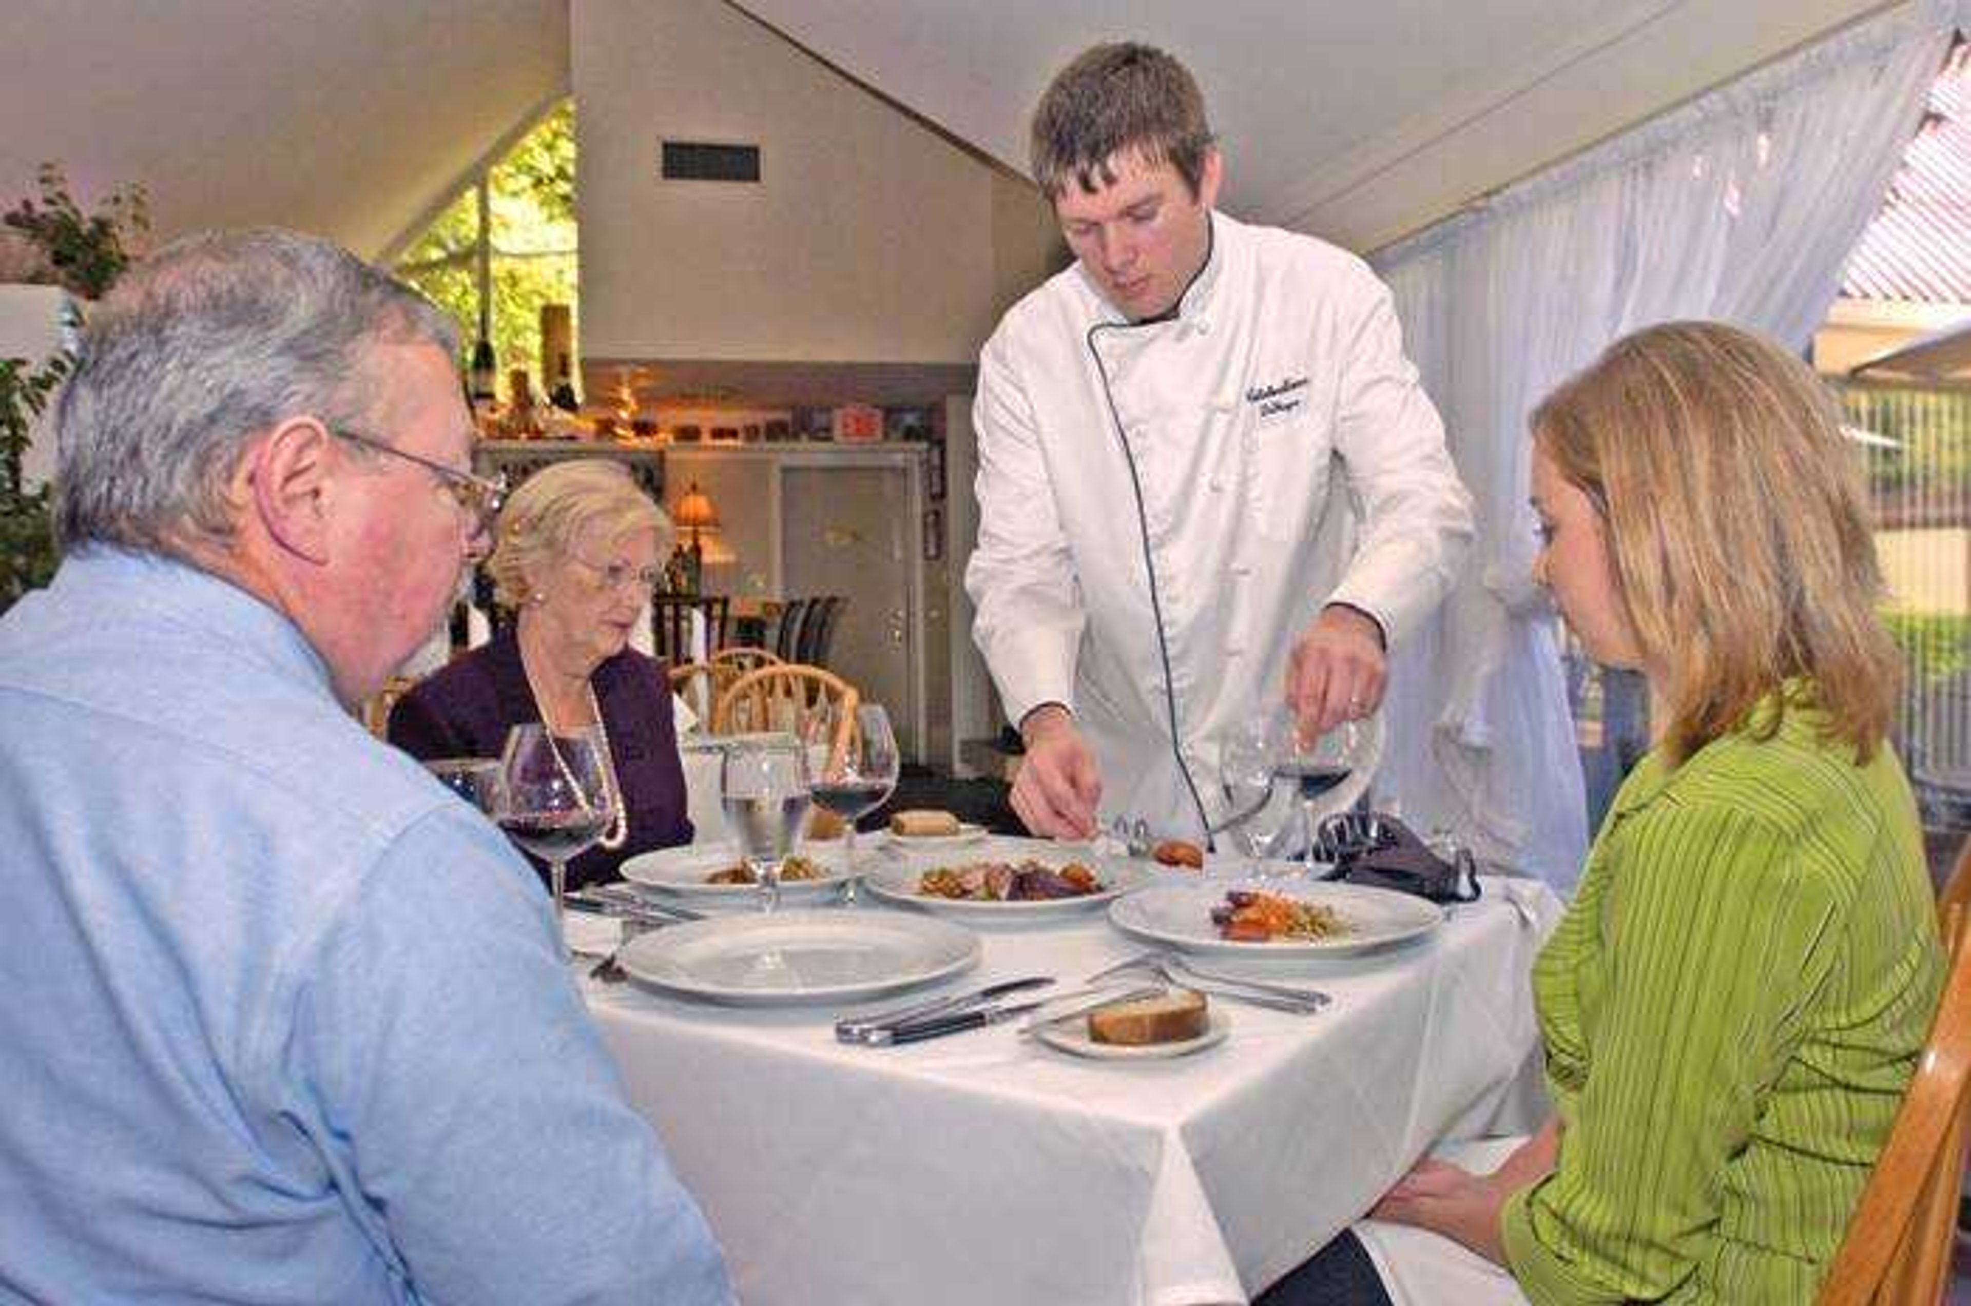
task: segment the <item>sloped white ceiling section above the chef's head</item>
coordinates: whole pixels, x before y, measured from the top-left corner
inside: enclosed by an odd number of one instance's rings
[[[1228,211],[1358,250],[1813,39],[1882,0],[737,0],[1025,171],[1047,79],[1163,45],[1204,87]]]

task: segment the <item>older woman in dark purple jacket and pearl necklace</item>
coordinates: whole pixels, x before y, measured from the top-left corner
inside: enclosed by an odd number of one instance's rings
[[[568,735],[601,723],[621,814],[568,863],[572,888],[619,879],[635,853],[692,841],[664,668],[629,648],[674,542],[670,518],[619,463],[536,473],[501,512],[487,561],[516,622],[390,711],[390,743],[418,758],[499,756],[524,721]]]

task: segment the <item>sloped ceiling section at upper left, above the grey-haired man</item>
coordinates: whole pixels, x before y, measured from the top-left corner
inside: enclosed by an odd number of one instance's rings
[[[0,205],[61,162],[158,236],[276,223],[374,258],[568,93],[568,0],[6,0]]]

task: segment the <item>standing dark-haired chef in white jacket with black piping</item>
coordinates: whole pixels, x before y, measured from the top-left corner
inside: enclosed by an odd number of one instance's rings
[[[1171,55],[1082,53],[1033,162],[1076,262],[980,357],[966,571],[1027,745],[1013,808],[1041,835],[1127,816],[1202,839],[1224,741],[1281,695],[1309,733],[1376,713],[1470,496],[1368,266],[1212,209],[1220,156]]]

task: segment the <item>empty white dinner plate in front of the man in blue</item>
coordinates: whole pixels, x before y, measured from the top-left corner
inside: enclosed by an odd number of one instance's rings
[[[733,1007],[855,1003],[970,969],[978,936],[911,912],[753,912],[666,926],[617,961],[652,989]]]

